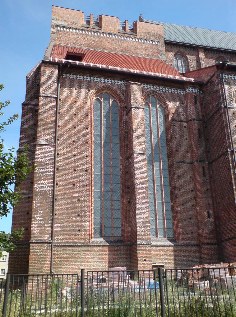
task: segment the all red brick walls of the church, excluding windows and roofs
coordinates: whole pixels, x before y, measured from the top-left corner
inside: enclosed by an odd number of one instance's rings
[[[204,60],[213,63],[214,54],[203,49],[166,44],[165,52],[162,27],[155,24],[139,21],[133,33],[123,34],[115,17],[100,16],[101,29],[96,32],[84,22],[82,12],[54,7],[53,44],[163,59],[166,53],[169,64],[174,53],[182,51],[191,70]],[[58,29],[59,25],[81,32]],[[150,269],[156,262],[183,267],[217,262],[219,254],[234,260],[230,248],[235,247],[235,180],[227,127],[234,144],[236,116],[233,108],[226,113],[221,107],[226,101],[219,76],[213,76],[202,94],[195,83],[72,65],[62,66],[59,75],[58,69],[59,64],[43,62],[27,79],[20,146],[29,144],[35,165],[14,210],[13,228],[24,227],[25,236],[10,257],[10,272]],[[188,76],[206,81],[215,71]],[[225,83],[228,99],[234,89],[235,80]],[[116,243],[93,238],[92,105],[102,92],[120,105],[122,241]],[[165,109],[173,241],[150,237],[143,109],[150,95]]]

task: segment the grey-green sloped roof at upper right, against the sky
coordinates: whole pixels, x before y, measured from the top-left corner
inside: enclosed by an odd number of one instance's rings
[[[209,30],[171,23],[152,22],[164,26],[165,41],[236,51],[236,33]]]

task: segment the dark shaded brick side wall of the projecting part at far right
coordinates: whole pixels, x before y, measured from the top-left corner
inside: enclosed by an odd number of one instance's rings
[[[227,113],[226,99],[229,96],[225,95],[219,72],[207,83],[204,92],[205,136],[220,258],[235,261],[235,175],[228,121],[228,115],[232,118],[232,113],[230,109]]]

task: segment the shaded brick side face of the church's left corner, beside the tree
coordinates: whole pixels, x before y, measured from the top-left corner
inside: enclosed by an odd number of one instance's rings
[[[30,164],[34,165],[35,147],[38,128],[38,105],[40,90],[41,67],[35,67],[26,78],[26,100],[22,104],[20,149],[27,149]],[[13,229],[24,229],[21,242],[9,258],[9,272],[27,273],[29,268],[29,240],[31,238],[31,221],[33,208],[34,173],[28,175],[18,190],[22,200],[17,204],[13,213]]]

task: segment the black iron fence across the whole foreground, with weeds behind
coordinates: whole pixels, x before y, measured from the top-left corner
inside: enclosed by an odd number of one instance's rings
[[[236,317],[233,267],[8,275],[3,317]]]

